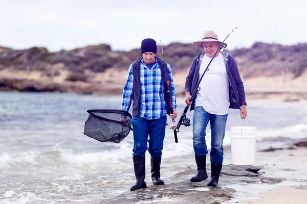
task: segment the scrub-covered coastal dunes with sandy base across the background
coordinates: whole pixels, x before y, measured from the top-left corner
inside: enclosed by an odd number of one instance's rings
[[[177,93],[184,94],[191,62],[203,49],[174,42],[164,45],[163,51]],[[307,43],[256,42],[250,48],[224,52],[235,58],[248,93],[307,92]],[[16,50],[0,46],[0,90],[121,94],[128,65],[139,56],[139,48],[125,52],[112,50],[108,44],[59,52],[44,47]],[[163,59],[160,45],[157,56]]]

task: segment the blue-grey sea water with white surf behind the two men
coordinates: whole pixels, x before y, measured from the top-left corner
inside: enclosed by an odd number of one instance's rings
[[[184,98],[177,102],[176,121],[185,108]],[[0,92],[0,203],[98,203],[128,193],[135,184],[132,131],[119,144],[83,135],[86,110],[120,107],[121,96]],[[257,127],[257,140],[307,137],[303,106],[252,104],[247,111],[242,120],[238,110],[230,110],[224,146],[230,144],[230,127],[244,124]],[[192,120],[193,111],[187,115]],[[161,168],[165,183],[169,176],[195,167],[192,125],[180,127],[178,140],[174,142],[166,126]],[[146,182],[151,185],[148,152]]]

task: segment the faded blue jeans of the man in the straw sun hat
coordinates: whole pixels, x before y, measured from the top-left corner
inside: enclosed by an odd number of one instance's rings
[[[205,140],[206,127],[210,120],[211,127],[211,151],[210,162],[223,163],[226,115],[214,115],[207,113],[202,106],[195,107],[193,116],[193,148],[195,155],[207,155],[208,149]]]

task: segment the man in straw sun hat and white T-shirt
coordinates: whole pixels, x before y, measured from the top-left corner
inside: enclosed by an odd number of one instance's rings
[[[213,31],[206,31],[201,40],[194,45],[204,47],[204,52],[195,57],[185,82],[185,103],[194,110],[193,115],[193,148],[198,172],[191,182],[201,182],[208,178],[206,156],[208,154],[205,140],[206,127],[210,121],[211,129],[211,180],[207,186],[217,186],[223,165],[223,140],[229,108],[239,109],[240,117],[247,116],[245,90],[240,78],[237,64],[227,53],[217,50],[222,42]],[[226,43],[220,46],[225,48]],[[220,54],[220,55],[219,55]],[[196,87],[202,74],[199,87]],[[198,89],[196,97],[190,101],[191,94]]]

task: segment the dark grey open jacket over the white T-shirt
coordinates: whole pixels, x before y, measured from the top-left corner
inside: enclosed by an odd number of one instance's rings
[[[188,77],[185,82],[185,92],[189,91],[191,95],[197,88],[196,85],[199,79],[200,65],[202,64],[204,55],[205,53],[201,53],[199,54],[199,56],[194,58]],[[229,108],[240,109],[242,105],[246,105],[246,101],[245,90],[239,74],[238,66],[233,57],[231,57],[227,53],[223,53],[222,55],[224,56],[224,63],[226,66],[229,81]],[[208,68],[210,69],[210,66]],[[204,80],[204,78],[202,80]],[[210,87],[206,88],[210,89]],[[193,100],[190,111],[194,110],[194,108],[195,99]]]

